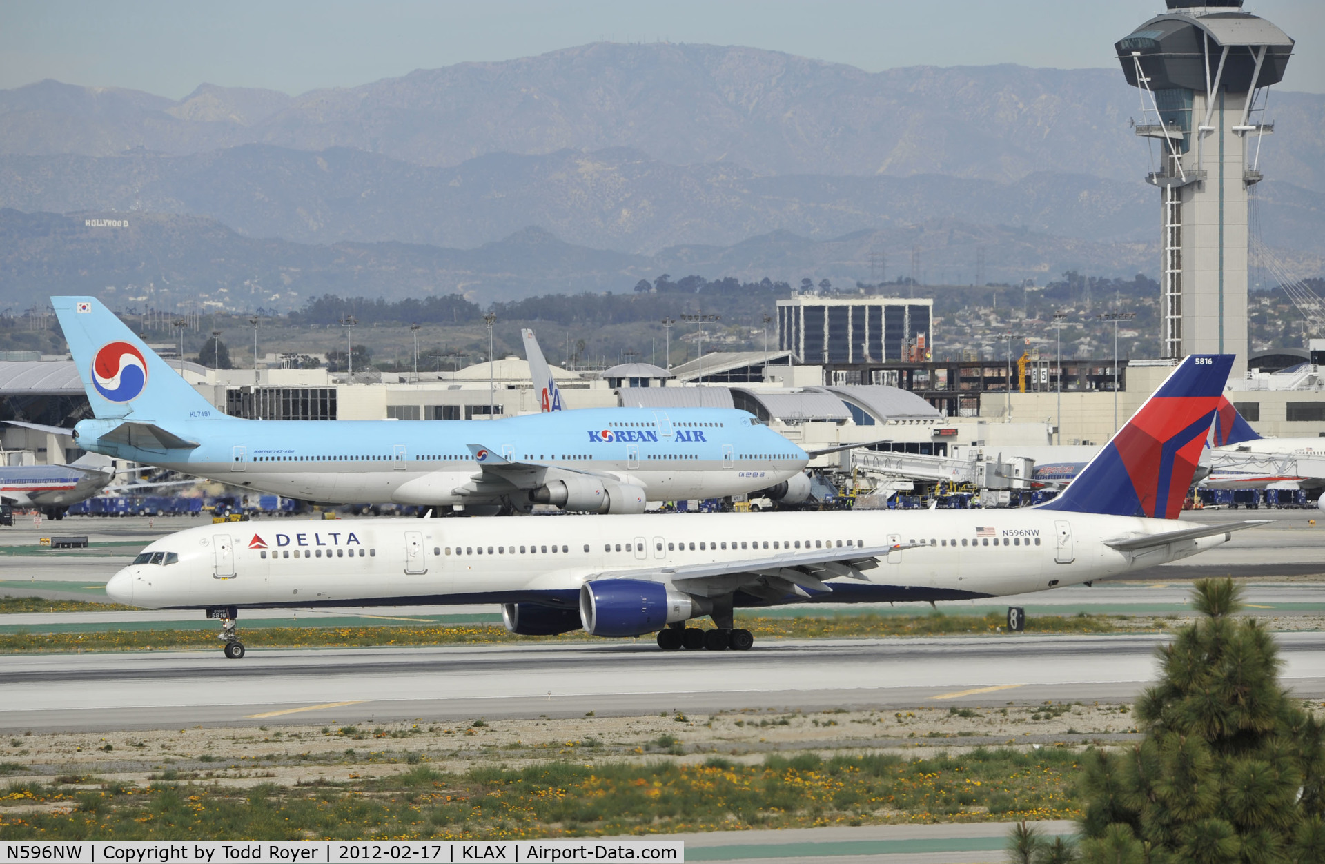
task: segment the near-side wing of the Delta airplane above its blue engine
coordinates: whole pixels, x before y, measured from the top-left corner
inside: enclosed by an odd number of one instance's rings
[[[836,576],[868,582],[869,576],[861,571],[877,567],[878,558],[917,546],[920,543],[837,547],[812,553],[774,553],[706,565],[607,570],[592,574],[588,579],[669,582],[677,590],[697,596],[721,596],[733,591],[745,591],[767,600],[776,600],[787,594],[808,598],[812,596],[811,592],[832,591],[832,586],[827,584],[825,580]]]

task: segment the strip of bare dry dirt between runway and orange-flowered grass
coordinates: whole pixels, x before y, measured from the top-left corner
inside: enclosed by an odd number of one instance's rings
[[[705,716],[579,717],[439,725],[192,728],[25,733],[0,741],[5,781],[70,786],[146,786],[154,781],[225,786],[384,777],[425,762],[439,770],[518,767],[542,759],[674,758],[721,754],[759,762],[770,751],[894,750],[925,757],[975,746],[1055,746],[1132,738],[1130,705],[991,702],[983,708],[904,712],[731,712]]]

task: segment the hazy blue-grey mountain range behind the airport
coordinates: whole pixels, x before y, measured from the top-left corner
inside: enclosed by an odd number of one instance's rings
[[[1153,274],[1137,98],[1112,69],[865,73],[610,42],[294,97],[44,81],[0,90],[0,208],[21,211],[0,217],[15,244],[0,301],[54,274],[252,305],[319,286],[628,290],[664,270]],[[1256,224],[1310,276],[1325,269],[1325,95],[1272,105]]]

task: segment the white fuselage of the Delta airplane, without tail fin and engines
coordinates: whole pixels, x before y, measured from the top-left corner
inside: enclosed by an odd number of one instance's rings
[[[672,567],[757,559],[772,568],[776,558],[807,550],[901,545],[906,549],[861,570],[863,579],[827,579],[833,591],[808,599],[943,600],[1089,582],[1227,539],[1175,541],[1143,553],[1104,542],[1191,526],[1040,509],[231,522],[155,541],[144,555],[159,551],[178,561],[125,567],[106,590],[118,602],[151,608],[572,607],[580,586],[604,574],[666,582]],[[741,565],[733,572],[753,568]],[[788,594],[782,602],[807,598]]]

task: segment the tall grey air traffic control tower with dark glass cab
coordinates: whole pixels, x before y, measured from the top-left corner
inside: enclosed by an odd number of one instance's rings
[[[1267,87],[1291,40],[1242,0],[1167,0],[1114,44],[1141,90],[1137,135],[1151,140],[1161,199],[1159,343],[1165,358],[1236,354],[1247,371],[1247,191],[1260,180]]]

